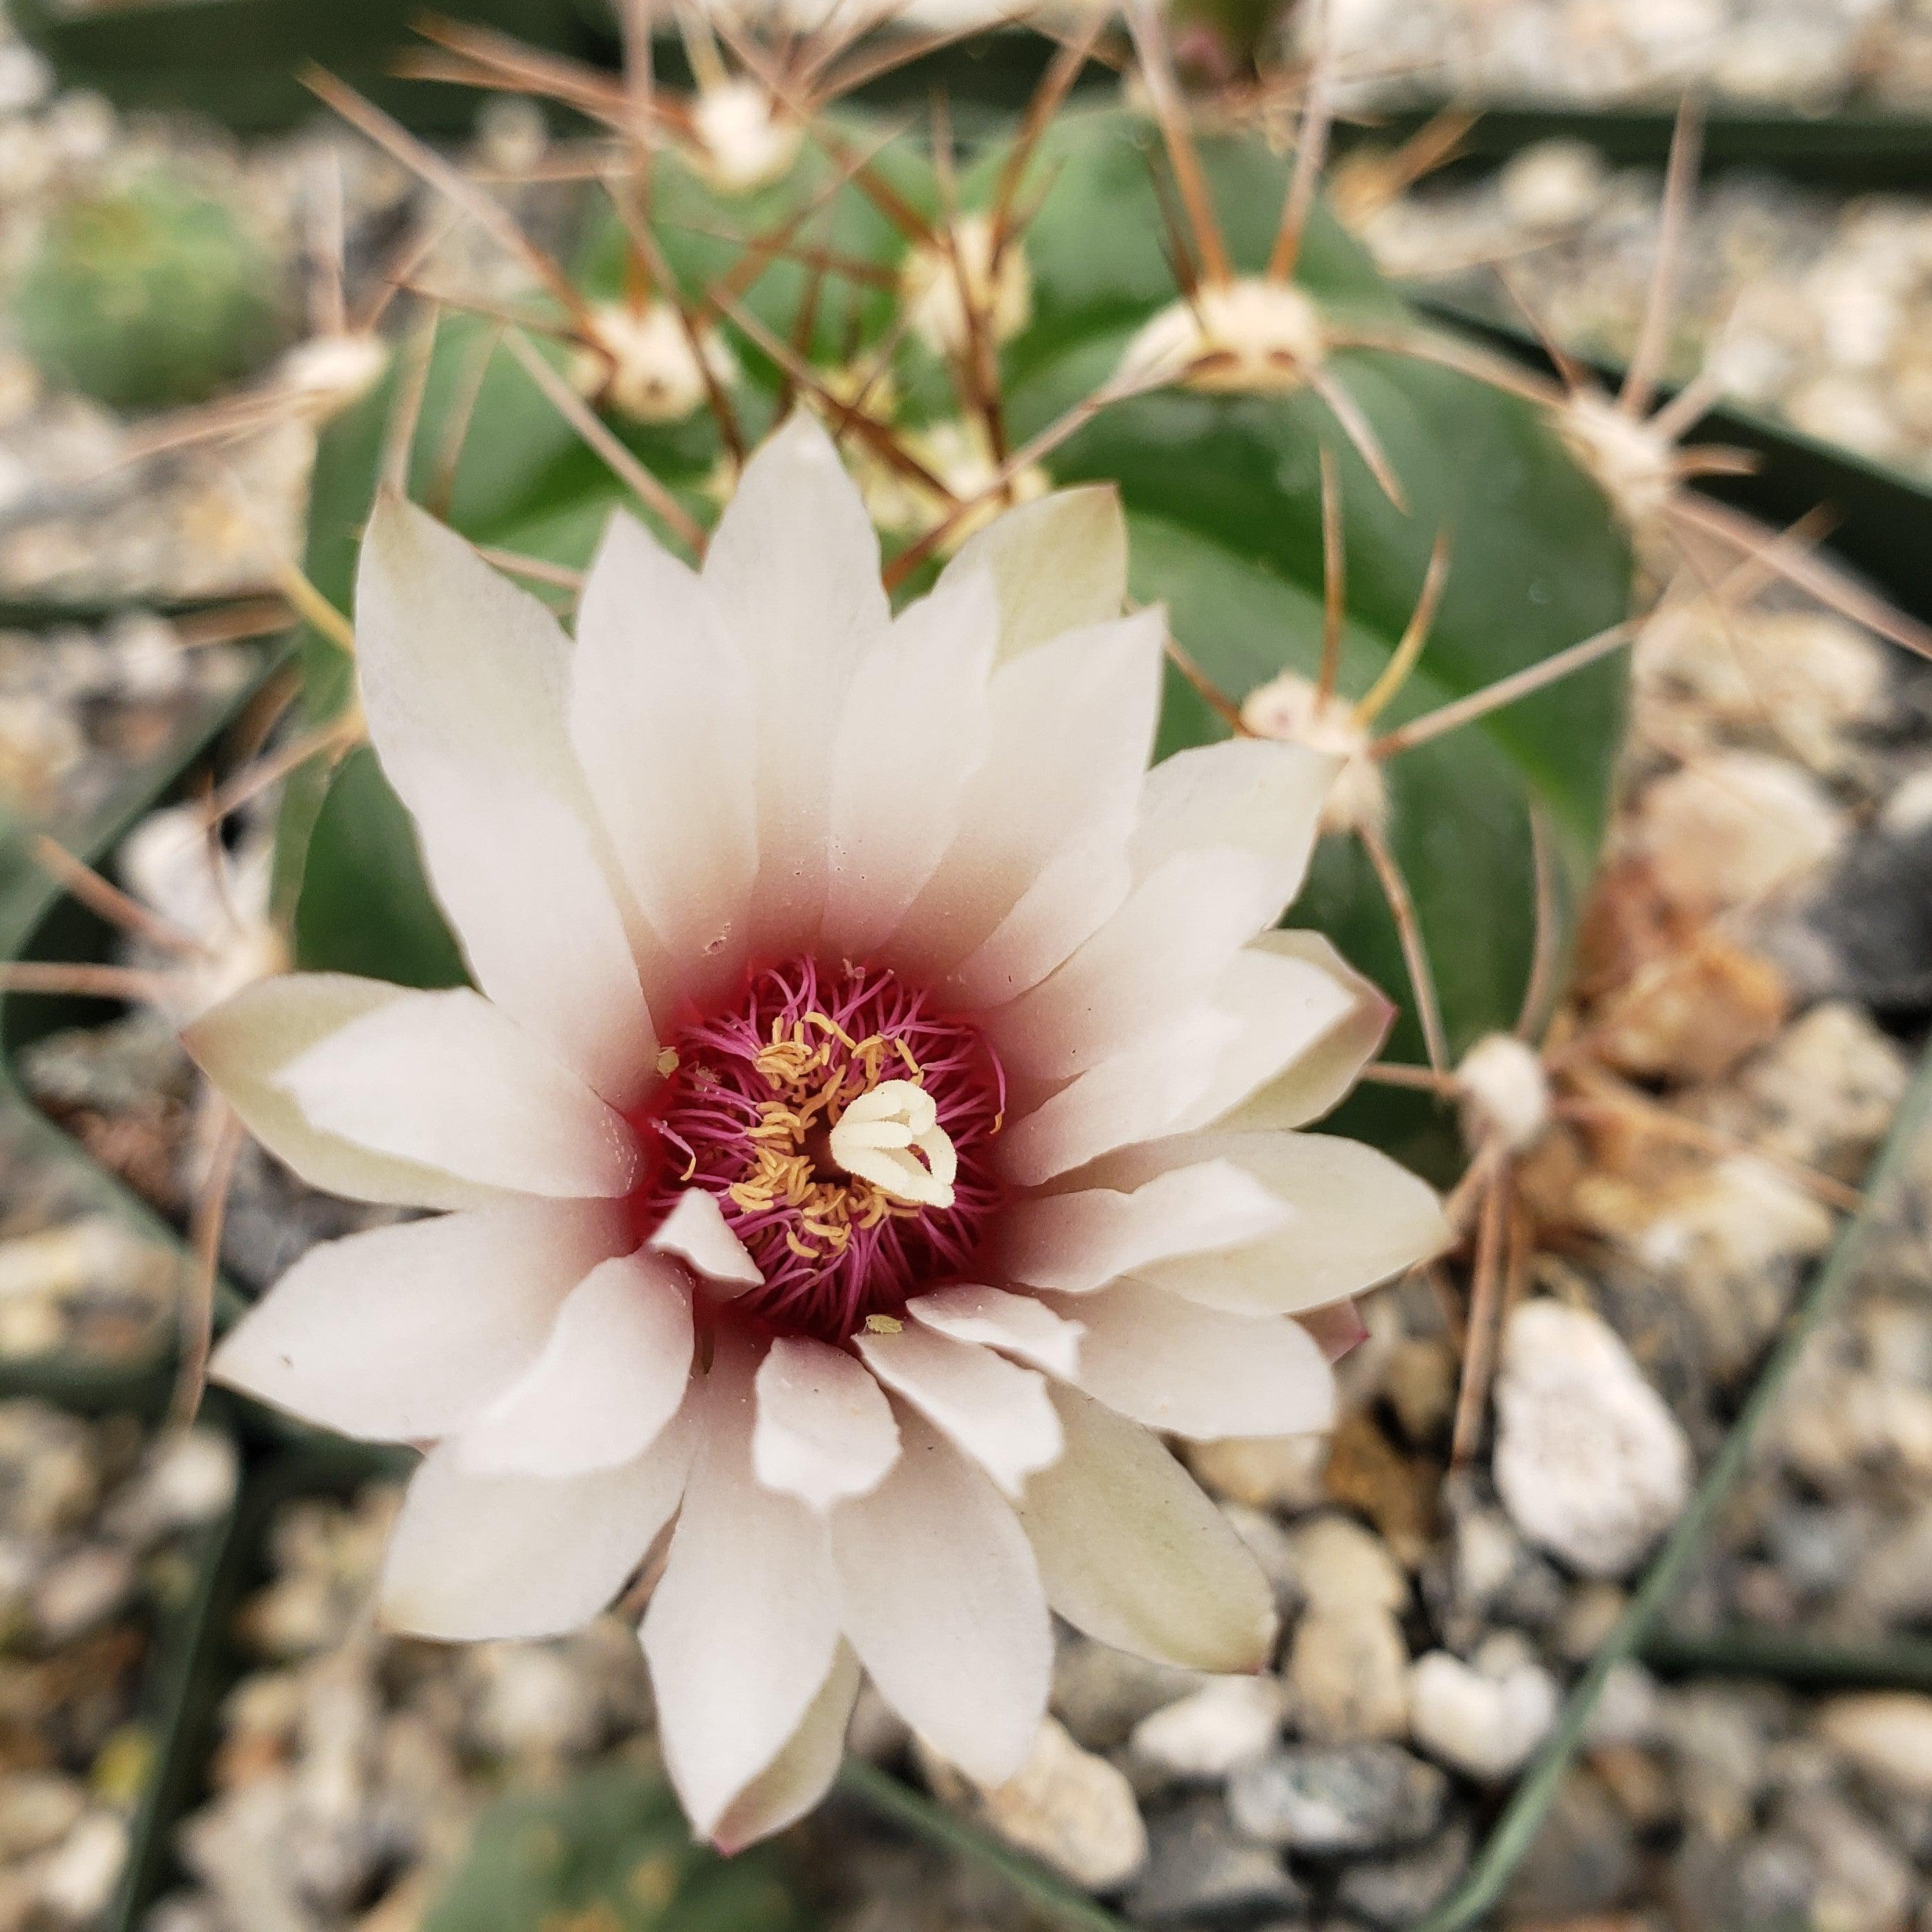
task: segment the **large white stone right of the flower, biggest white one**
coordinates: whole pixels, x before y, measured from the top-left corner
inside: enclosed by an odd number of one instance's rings
[[[1495,1488],[1530,1542],[1623,1577],[1690,1495],[1690,1445],[1615,1331],[1530,1300],[1503,1331]]]

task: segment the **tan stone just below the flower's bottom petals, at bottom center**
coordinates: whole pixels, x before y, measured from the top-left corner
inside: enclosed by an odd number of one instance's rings
[[[1148,1862],[1148,1828],[1134,1787],[1105,1758],[1082,1750],[1047,1718],[1034,1748],[1003,1785],[981,1789],[920,1752],[941,1795],[964,1799],[1009,1845],[1065,1872],[1088,1891],[1117,1891]]]

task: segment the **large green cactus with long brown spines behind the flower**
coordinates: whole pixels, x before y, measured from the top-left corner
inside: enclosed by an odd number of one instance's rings
[[[879,145],[831,114],[750,191],[667,145],[647,220],[593,216],[554,342],[520,363],[481,319],[444,321],[410,487],[475,541],[531,558],[568,603],[611,510],[638,504],[531,381],[539,355],[549,386],[574,381],[641,466],[645,514],[674,543],[800,396],[871,477],[906,589],[1007,502],[1117,485],[1132,593],[1173,618],[1163,752],[1250,728],[1347,755],[1302,912],[1403,1009],[1393,1057],[1453,1065],[1553,991],[1538,960],[1567,943],[1621,744],[1609,647],[1629,614],[1627,539],[1546,412],[1422,336],[1312,193],[1312,168],[1258,137],[1194,139],[1163,70],[1150,70],[1153,120],[1063,112],[1080,54],[1057,62],[1018,137],[966,166],[943,128],[935,145]],[[355,118],[408,158],[400,129],[365,104]],[[686,361],[715,330],[721,394],[694,402],[692,384],[668,419],[585,379],[614,303],[682,309]],[[340,609],[400,392],[392,379],[323,439],[309,572]],[[323,639],[309,661],[327,721],[348,663]],[[1546,667],[1548,688],[1499,701]],[[1459,699],[1480,715],[1447,732]],[[346,962],[319,908],[371,902],[367,873],[381,914],[354,960],[439,983],[448,937],[381,777],[346,765],[327,810],[325,788],[311,767],[284,837],[303,964]],[[1437,1171],[1455,1159],[1416,1092],[1370,1090],[1341,1124]]]

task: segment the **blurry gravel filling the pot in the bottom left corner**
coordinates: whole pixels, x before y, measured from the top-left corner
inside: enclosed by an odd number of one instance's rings
[[[143,1671],[234,1480],[211,1430],[0,1405],[0,1924],[79,1932],[114,1895],[155,1764]]]

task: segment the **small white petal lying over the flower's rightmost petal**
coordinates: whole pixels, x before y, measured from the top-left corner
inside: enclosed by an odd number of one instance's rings
[[[1132,1192],[1076,1188],[1007,1209],[1001,1267],[1036,1289],[1084,1294],[1150,1262],[1235,1248],[1285,1227],[1291,1213],[1233,1161],[1202,1161]]]

